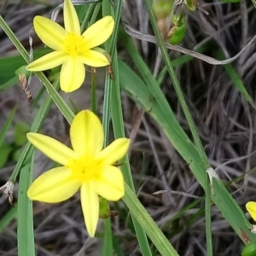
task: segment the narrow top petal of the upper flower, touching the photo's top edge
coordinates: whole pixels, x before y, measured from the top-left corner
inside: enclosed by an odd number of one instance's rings
[[[67,32],[80,35],[79,17],[76,10],[74,9],[73,3],[70,0],[64,1],[64,24]]]

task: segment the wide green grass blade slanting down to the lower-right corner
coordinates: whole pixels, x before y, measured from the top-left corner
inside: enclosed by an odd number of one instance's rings
[[[122,77],[121,87],[139,103],[163,128],[166,137],[170,140],[173,147],[181,154],[183,159],[188,163],[191,172],[203,188],[206,186],[206,169],[201,165],[201,158],[197,153],[195,146],[184,133],[182,127],[178,124],[172,109],[166,108],[165,113],[156,101],[154,94],[150,91],[142,79],[132,72],[122,61],[119,61],[119,75]],[[160,90],[160,89],[159,89]],[[153,96],[153,98],[152,98]],[[160,96],[160,94],[158,95]],[[161,101],[165,101],[161,97]],[[241,211],[225,188],[224,183],[214,179],[213,189],[215,194],[212,195],[212,201],[216,204],[224,218],[230,223],[230,226],[236,231],[244,243],[256,241],[256,235],[250,232],[251,224],[248,222],[244,212]]]

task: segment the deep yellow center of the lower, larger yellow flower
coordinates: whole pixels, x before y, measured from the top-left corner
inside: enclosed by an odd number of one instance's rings
[[[82,183],[97,179],[102,171],[102,165],[99,161],[85,157],[70,160],[67,168],[72,171],[73,177]]]

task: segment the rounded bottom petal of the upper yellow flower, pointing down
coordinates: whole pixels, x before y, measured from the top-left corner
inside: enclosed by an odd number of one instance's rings
[[[61,90],[72,92],[78,90],[84,82],[85,67],[79,58],[69,56],[61,67]]]

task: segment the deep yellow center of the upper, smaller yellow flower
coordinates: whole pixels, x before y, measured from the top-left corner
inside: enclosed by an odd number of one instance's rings
[[[82,36],[75,35],[71,32],[67,33],[67,38],[64,42],[65,51],[67,54],[77,56],[86,51],[86,45],[84,44],[84,38]]]

